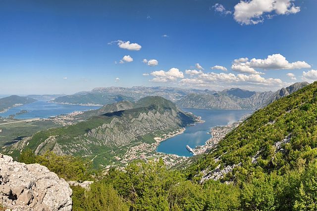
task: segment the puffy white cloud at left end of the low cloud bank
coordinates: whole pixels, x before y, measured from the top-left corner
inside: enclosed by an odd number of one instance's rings
[[[180,72],[177,68],[171,68],[169,71],[154,71],[151,73],[154,78],[151,80],[152,82],[168,82],[168,81],[176,81],[177,79],[183,79],[184,74]]]

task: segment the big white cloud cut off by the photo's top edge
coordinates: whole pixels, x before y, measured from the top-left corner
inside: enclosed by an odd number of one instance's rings
[[[241,0],[234,6],[234,19],[240,24],[258,24],[264,21],[264,13],[269,18],[274,15],[295,14],[300,11],[294,0]]]

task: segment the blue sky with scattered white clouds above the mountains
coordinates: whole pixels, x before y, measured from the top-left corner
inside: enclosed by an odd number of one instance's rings
[[[316,0],[0,0],[0,94],[317,80]]]

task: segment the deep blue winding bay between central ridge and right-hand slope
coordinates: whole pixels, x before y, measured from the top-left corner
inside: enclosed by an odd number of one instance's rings
[[[233,123],[242,118],[243,115],[251,114],[252,110],[208,110],[208,109],[182,109],[183,111],[192,112],[196,116],[202,117],[205,123],[198,123],[195,126],[186,127],[184,133],[176,135],[162,141],[157,151],[167,154],[176,154],[179,156],[192,156],[186,145],[195,148],[204,145],[211,138],[211,127],[224,126]]]

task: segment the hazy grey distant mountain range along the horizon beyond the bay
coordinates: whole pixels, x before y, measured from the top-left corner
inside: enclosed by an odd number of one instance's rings
[[[200,109],[258,109],[280,97],[287,96],[307,85],[307,82],[295,83],[277,92],[256,92],[240,88],[222,91],[184,89],[177,87],[99,87],[91,91],[57,97],[52,102],[66,104],[105,105],[122,100],[137,101],[146,96],[161,96],[179,107]]]

